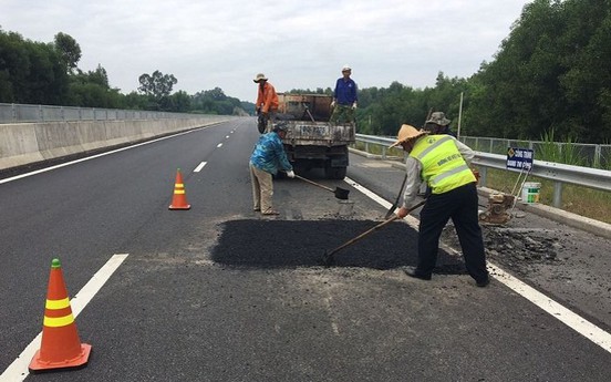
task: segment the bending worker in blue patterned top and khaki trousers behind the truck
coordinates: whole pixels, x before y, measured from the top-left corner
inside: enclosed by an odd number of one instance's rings
[[[276,175],[278,169],[283,169],[289,177],[294,177],[292,166],[282,145],[287,128],[286,122],[279,123],[270,133],[261,135],[250,156],[249,167],[250,179],[252,180],[253,209],[261,211],[262,215],[278,215],[271,203],[273,195],[272,175]]]

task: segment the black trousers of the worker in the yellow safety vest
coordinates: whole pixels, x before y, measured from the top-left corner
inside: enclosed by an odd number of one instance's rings
[[[475,183],[460,186],[444,194],[432,194],[420,214],[418,265],[416,270],[431,275],[437,262],[439,237],[452,218],[465,266],[476,281],[488,278],[486,252],[478,219],[478,198]]]

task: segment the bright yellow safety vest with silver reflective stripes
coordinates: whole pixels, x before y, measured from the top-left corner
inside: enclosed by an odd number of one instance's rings
[[[449,135],[425,135],[410,156],[422,164],[422,177],[433,194],[443,194],[477,182]]]

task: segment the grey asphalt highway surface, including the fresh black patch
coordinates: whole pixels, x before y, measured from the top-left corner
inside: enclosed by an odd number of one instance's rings
[[[452,226],[433,280],[406,277],[407,220],[327,268],[325,250],[383,220],[369,190],[394,200],[401,171],[351,155],[345,183],[302,174],[349,188],[349,204],[278,179],[281,214],[262,217],[248,173],[258,135],[244,118],[0,180],[0,381],[611,380],[608,240],[530,214],[485,227],[494,279],[477,288]],[[168,210],[177,168],[189,210]],[[29,375],[54,257],[92,355]]]

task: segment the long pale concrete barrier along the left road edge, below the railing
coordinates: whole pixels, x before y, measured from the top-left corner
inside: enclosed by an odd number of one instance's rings
[[[0,171],[146,141],[235,118],[70,121],[0,124]]]

